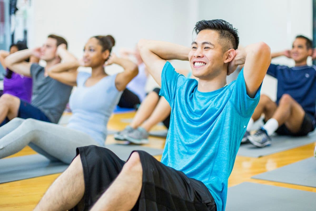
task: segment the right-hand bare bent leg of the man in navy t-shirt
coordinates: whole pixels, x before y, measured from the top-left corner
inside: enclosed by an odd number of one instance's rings
[[[304,115],[305,111],[301,105],[290,95],[284,94],[272,118],[276,119],[279,125],[285,124],[292,133],[296,133],[301,129]]]

